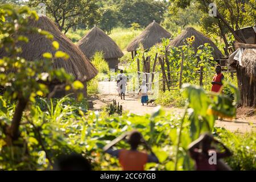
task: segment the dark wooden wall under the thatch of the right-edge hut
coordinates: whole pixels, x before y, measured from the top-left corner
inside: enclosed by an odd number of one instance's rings
[[[237,67],[238,89],[240,90],[240,105],[256,107],[256,80],[246,75],[245,68]]]

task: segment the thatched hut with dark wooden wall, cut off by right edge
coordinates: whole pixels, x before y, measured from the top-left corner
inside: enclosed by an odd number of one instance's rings
[[[236,44],[228,63],[237,70],[240,104],[256,107],[256,44]]]

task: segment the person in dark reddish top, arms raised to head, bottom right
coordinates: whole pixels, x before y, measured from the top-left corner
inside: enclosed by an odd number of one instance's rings
[[[212,143],[220,144],[224,148],[224,152],[217,151]],[[192,159],[196,162],[197,171],[230,171],[231,168],[222,161],[222,158],[231,156],[230,150],[224,146],[221,142],[214,139],[209,133],[200,135],[200,137],[189,144],[188,151]],[[212,152],[216,153],[216,164],[210,164],[209,158],[213,155]]]

